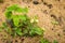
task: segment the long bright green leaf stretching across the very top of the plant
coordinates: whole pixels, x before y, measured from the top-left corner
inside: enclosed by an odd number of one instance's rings
[[[22,12],[22,13],[28,13],[27,8],[20,8],[17,4],[13,4],[6,9],[6,11],[14,11],[14,12]]]

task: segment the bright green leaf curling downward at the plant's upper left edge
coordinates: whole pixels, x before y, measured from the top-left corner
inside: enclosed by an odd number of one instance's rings
[[[11,18],[11,16],[12,16],[12,11],[15,11],[17,8],[18,8],[17,4],[13,4],[13,5],[9,6],[9,8],[5,10],[5,17],[6,17],[6,18]]]

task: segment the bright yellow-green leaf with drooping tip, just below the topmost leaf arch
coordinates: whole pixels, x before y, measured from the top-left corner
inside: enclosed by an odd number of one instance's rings
[[[27,17],[26,17],[25,15],[13,15],[13,23],[14,23],[15,26],[18,26],[20,19],[21,19],[22,22],[25,22],[26,18],[27,18]]]

